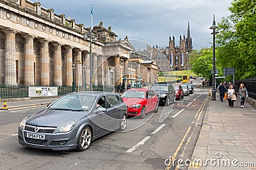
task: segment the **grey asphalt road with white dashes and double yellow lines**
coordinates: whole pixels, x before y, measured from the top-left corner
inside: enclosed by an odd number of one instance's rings
[[[20,120],[45,106],[0,111],[0,169],[187,169],[166,165],[170,158],[191,158],[208,91],[195,89],[174,106],[159,106],[158,113],[148,113],[144,120],[131,118],[129,131],[97,139],[85,152],[53,152],[19,145]]]

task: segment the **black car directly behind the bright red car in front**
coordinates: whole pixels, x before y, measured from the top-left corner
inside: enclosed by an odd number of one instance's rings
[[[151,90],[154,90],[156,93],[159,104],[165,104],[165,106],[169,106],[170,103],[175,102],[175,90],[171,84],[158,83],[152,85]]]

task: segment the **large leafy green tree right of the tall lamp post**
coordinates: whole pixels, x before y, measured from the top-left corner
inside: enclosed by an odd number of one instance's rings
[[[236,67],[236,80],[256,77],[256,1],[234,0],[218,24],[218,66]]]

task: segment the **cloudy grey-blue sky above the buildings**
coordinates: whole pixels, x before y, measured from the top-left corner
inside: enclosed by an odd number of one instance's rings
[[[32,0],[35,2],[35,0]],[[228,7],[232,0],[44,0],[41,5],[53,8],[54,13],[65,14],[77,24],[90,27],[90,8],[93,5],[93,25],[103,21],[104,27],[112,27],[117,39],[138,39],[158,47],[168,46],[169,36],[187,36],[190,25],[193,49],[210,47],[211,27],[215,14],[216,22],[230,15]],[[146,43],[146,44],[147,44]]]

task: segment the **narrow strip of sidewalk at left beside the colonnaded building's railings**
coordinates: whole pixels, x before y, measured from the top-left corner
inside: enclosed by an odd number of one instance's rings
[[[21,107],[28,107],[28,106],[40,106],[51,104],[52,102],[56,101],[59,97],[51,97],[47,99],[30,99],[30,100],[22,100],[22,101],[8,101],[6,102],[8,109],[13,108],[21,108]],[[1,108],[3,107],[3,102],[1,102]]]

